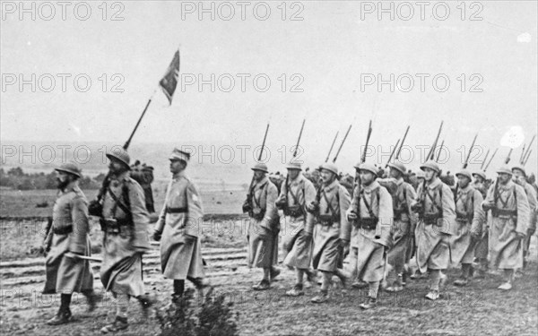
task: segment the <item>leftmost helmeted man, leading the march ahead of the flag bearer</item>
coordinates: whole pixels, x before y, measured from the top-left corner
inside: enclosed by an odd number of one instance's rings
[[[45,241],[47,278],[43,294],[61,293],[61,303],[56,316],[48,321],[50,325],[72,320],[69,306],[73,292],[87,298],[88,311],[95,308],[90,262],[78,258],[91,254],[88,201],[78,185],[81,169],[74,163],[65,163],[56,172],[59,190]]]

